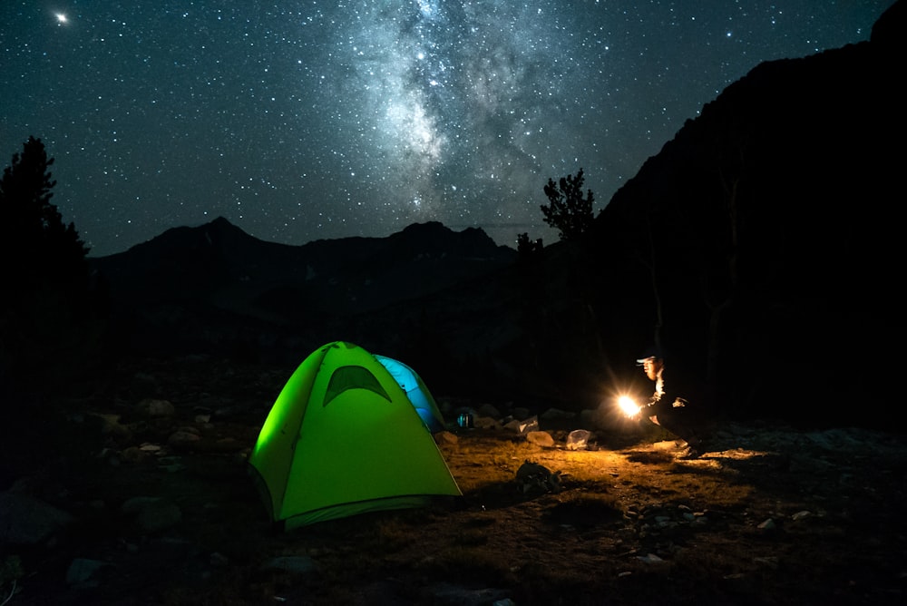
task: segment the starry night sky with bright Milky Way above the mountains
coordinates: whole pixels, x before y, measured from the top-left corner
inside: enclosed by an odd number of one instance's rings
[[[0,2],[0,166],[41,138],[92,251],[224,216],[260,239],[414,222],[545,243],[757,64],[868,40],[894,0]]]

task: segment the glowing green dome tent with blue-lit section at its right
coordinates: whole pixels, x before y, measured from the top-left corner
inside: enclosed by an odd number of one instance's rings
[[[385,366],[395,360],[387,360],[351,343],[330,343],[307,357],[280,392],[249,469],[271,518],[285,529],[462,495],[416,407],[441,420],[434,399],[423,395],[414,404],[408,386]],[[421,388],[412,391],[427,394],[413,376]]]

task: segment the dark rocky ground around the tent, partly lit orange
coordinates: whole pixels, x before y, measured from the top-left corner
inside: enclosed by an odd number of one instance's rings
[[[280,533],[245,459],[285,378],[207,360],[121,368],[7,441],[0,604],[907,598],[900,436],[731,424],[686,461],[664,436],[603,429],[600,411],[439,397],[476,412],[475,428],[437,436],[462,499]],[[513,413],[537,414],[539,432],[508,426]]]

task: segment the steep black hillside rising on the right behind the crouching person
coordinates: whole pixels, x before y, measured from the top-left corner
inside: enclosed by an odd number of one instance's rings
[[[886,406],[875,358],[900,324],[903,13],[871,42],[758,65],[598,217],[590,255],[633,293],[600,299],[621,318],[606,333],[652,335],[654,268],[661,337],[724,412],[825,423]]]

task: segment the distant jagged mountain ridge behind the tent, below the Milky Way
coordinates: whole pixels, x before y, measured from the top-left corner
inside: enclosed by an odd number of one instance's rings
[[[253,238],[225,219],[168,230],[90,259],[109,285],[115,347],[301,360],[326,342],[368,338],[380,314],[507,267],[516,252],[482,230],[414,224],[387,238],[302,246]],[[364,329],[378,344],[401,327]],[[384,347],[381,347],[384,350]]]

